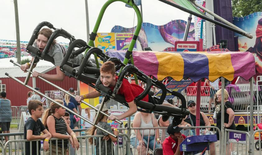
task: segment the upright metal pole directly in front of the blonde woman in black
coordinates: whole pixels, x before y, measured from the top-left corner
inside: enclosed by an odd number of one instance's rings
[[[224,115],[225,115],[225,106],[224,106],[224,98],[225,98],[225,79],[221,78],[221,139],[220,140],[220,154],[224,154],[224,136],[225,136],[225,126],[224,126]]]

